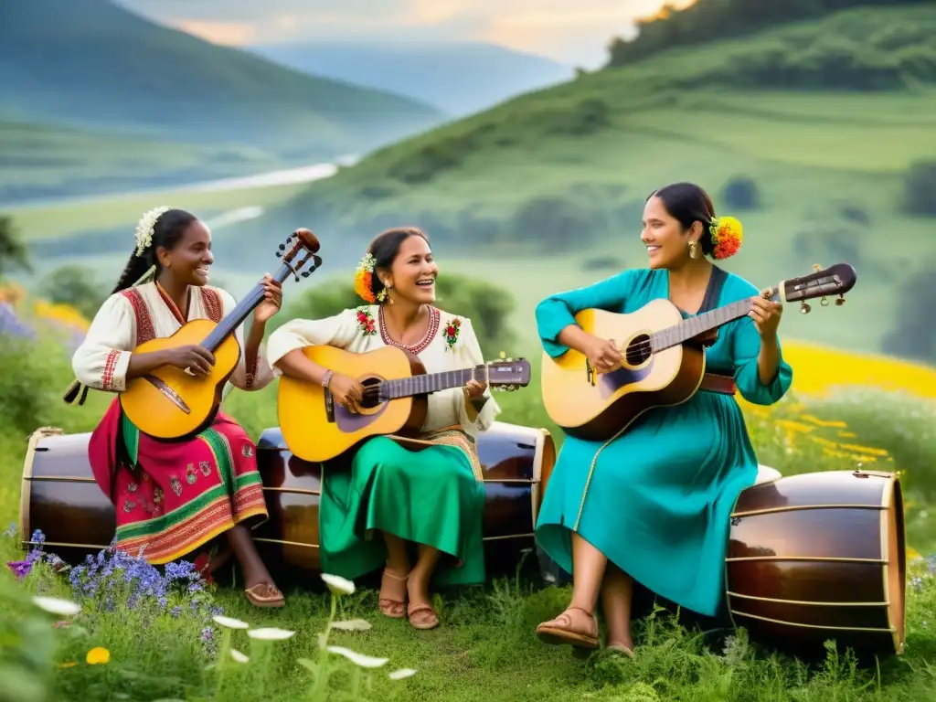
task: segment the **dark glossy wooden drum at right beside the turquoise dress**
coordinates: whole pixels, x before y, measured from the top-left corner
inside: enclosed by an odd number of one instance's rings
[[[727,607],[752,640],[823,655],[903,652],[906,547],[897,475],[791,475],[744,490],[731,516]]]

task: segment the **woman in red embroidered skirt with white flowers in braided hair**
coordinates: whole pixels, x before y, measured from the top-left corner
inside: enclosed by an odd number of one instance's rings
[[[164,207],[143,215],[137,248],[72,359],[77,380],[66,402],[84,402],[88,388],[120,392],[127,381],[164,365],[209,372],[214,359],[200,346],[144,354],[133,349],[170,336],[188,320],[218,322],[234,309],[225,290],[206,285],[211,248],[208,227],[188,212]],[[280,308],[281,286],[269,275],[263,285],[265,298],[246,343],[242,329],[236,332],[242,354],[230,382],[245,390],[263,388],[273,378],[261,340],[267,320]],[[168,563],[226,534],[241,563],[247,599],[256,607],[284,606],[247,528],[267,519],[267,507],[256,447],[233,419],[219,412],[197,437],[167,443],[139,431],[115,398],[88,453],[97,484],[117,513],[117,548],[133,555],[142,549],[150,563]],[[199,569],[211,570],[227,556],[207,548],[196,561]]]

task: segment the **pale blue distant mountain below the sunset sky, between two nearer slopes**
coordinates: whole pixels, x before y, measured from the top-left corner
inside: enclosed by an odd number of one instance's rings
[[[482,42],[316,41],[253,51],[306,73],[409,95],[458,116],[575,75],[572,66]]]

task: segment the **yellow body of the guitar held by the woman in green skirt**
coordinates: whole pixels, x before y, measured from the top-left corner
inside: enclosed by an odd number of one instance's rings
[[[365,354],[332,346],[306,346],[302,353],[336,375],[355,378],[365,387],[426,373],[419,358],[396,346]],[[429,401],[426,395],[414,395],[388,402],[365,402],[359,414],[352,414],[333,402],[331,393],[320,385],[282,375],[277,409],[289,450],[303,461],[322,462],[372,436],[415,436],[426,421]]]

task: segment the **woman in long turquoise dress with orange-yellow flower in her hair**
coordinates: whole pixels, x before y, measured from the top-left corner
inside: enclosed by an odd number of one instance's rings
[[[734,386],[749,402],[767,405],[782,398],[793,378],[777,337],[781,305],[709,260],[736,253],[740,237],[739,222],[716,218],[702,188],[668,185],[644,209],[649,268],[554,295],[536,308],[548,355],[574,348],[601,373],[617,367],[622,354],[578,327],[574,316],[581,310],[628,314],[665,298],[689,317],[751,299],[748,316],[719,329],[707,351],[706,371],[723,376],[720,384],[704,386],[689,402],[651,410],[606,446],[565,438],[536,539],[574,585],[569,607],[536,629],[546,643],[597,649],[600,597],[607,648],[633,657],[634,581],[703,615],[714,616],[722,605],[730,512],[757,475]]]

